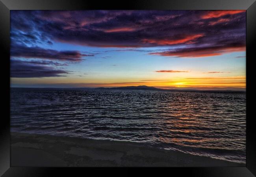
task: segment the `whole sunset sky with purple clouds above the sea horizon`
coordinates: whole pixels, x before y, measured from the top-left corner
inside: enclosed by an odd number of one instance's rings
[[[10,87],[246,89],[243,10],[10,13]]]

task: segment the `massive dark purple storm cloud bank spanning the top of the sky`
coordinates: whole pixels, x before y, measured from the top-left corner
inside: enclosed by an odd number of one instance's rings
[[[205,56],[212,56],[224,53],[221,46],[225,52],[236,50],[234,43],[245,46],[245,17],[245,11],[11,11],[11,39],[35,46],[53,41],[119,48],[182,46],[177,52],[208,50]]]

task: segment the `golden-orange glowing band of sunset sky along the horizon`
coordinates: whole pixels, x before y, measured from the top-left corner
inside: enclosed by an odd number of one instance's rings
[[[56,80],[55,80],[56,81]],[[113,82],[95,82],[95,83],[81,83],[83,79],[78,79],[74,83],[54,83],[52,80],[51,85],[56,85],[58,87],[123,87],[123,86],[139,86],[147,85],[157,88],[246,88],[246,76],[231,76],[231,77],[171,77],[168,80],[157,80],[150,79],[147,80],[129,80],[123,82],[122,80]],[[49,84],[49,83],[48,83]]]

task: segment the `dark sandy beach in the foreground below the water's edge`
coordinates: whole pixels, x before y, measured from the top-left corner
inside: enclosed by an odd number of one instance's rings
[[[135,142],[11,133],[11,166],[245,166]]]

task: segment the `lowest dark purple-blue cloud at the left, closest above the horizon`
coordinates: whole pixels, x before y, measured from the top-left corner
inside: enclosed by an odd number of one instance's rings
[[[30,61],[11,60],[11,77],[59,77],[60,74],[67,72]]]

